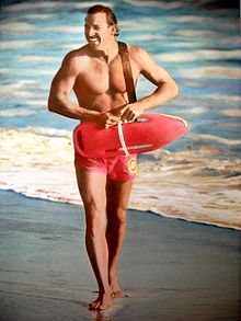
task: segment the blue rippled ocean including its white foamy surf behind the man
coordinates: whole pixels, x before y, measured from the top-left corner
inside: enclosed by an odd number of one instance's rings
[[[119,41],[148,50],[179,83],[180,96],[151,112],[192,127],[139,156],[130,208],[241,229],[240,21],[237,2],[222,2],[104,3],[117,14]],[[85,43],[84,16],[94,3],[2,1],[1,190],[81,204],[72,164],[78,122],[49,113],[47,98],[64,56]],[[137,96],[152,90],[140,78]]]

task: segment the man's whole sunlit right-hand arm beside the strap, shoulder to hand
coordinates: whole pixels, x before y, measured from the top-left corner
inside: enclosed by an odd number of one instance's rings
[[[134,121],[146,110],[162,105],[179,94],[179,88],[167,70],[158,66],[153,58],[144,49],[133,47],[130,58],[137,64],[140,73],[157,89],[150,95],[142,98],[136,103],[128,104],[123,110],[123,121]]]

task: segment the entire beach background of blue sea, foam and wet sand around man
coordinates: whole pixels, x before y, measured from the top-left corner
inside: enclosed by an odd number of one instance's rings
[[[182,117],[191,130],[138,156],[119,264],[129,298],[91,312],[97,286],[73,167],[79,122],[49,113],[47,100],[65,55],[85,44],[93,1],[2,1],[0,321],[241,319],[234,2],[105,1],[117,13],[118,39],[149,51],[179,84],[177,99],[150,112]],[[153,90],[140,77],[138,100]]]

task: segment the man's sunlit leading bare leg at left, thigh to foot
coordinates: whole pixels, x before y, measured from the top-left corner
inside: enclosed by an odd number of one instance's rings
[[[76,167],[80,195],[85,209],[85,245],[99,284],[99,297],[89,305],[92,310],[112,306],[108,284],[108,248],[106,243],[106,176],[100,172],[84,171]]]

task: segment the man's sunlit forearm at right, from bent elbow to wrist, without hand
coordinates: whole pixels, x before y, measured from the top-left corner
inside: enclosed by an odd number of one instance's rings
[[[162,83],[157,90],[138,101],[139,107],[142,111],[162,105],[168,101],[174,99],[179,94],[177,84],[173,81],[172,83]]]

